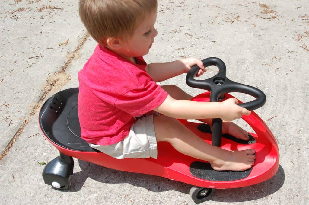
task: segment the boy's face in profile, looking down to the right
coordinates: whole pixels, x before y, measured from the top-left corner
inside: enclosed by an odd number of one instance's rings
[[[133,36],[123,43],[117,53],[129,60],[146,55],[158,34],[154,27],[156,19],[157,12],[154,11],[138,25]]]

